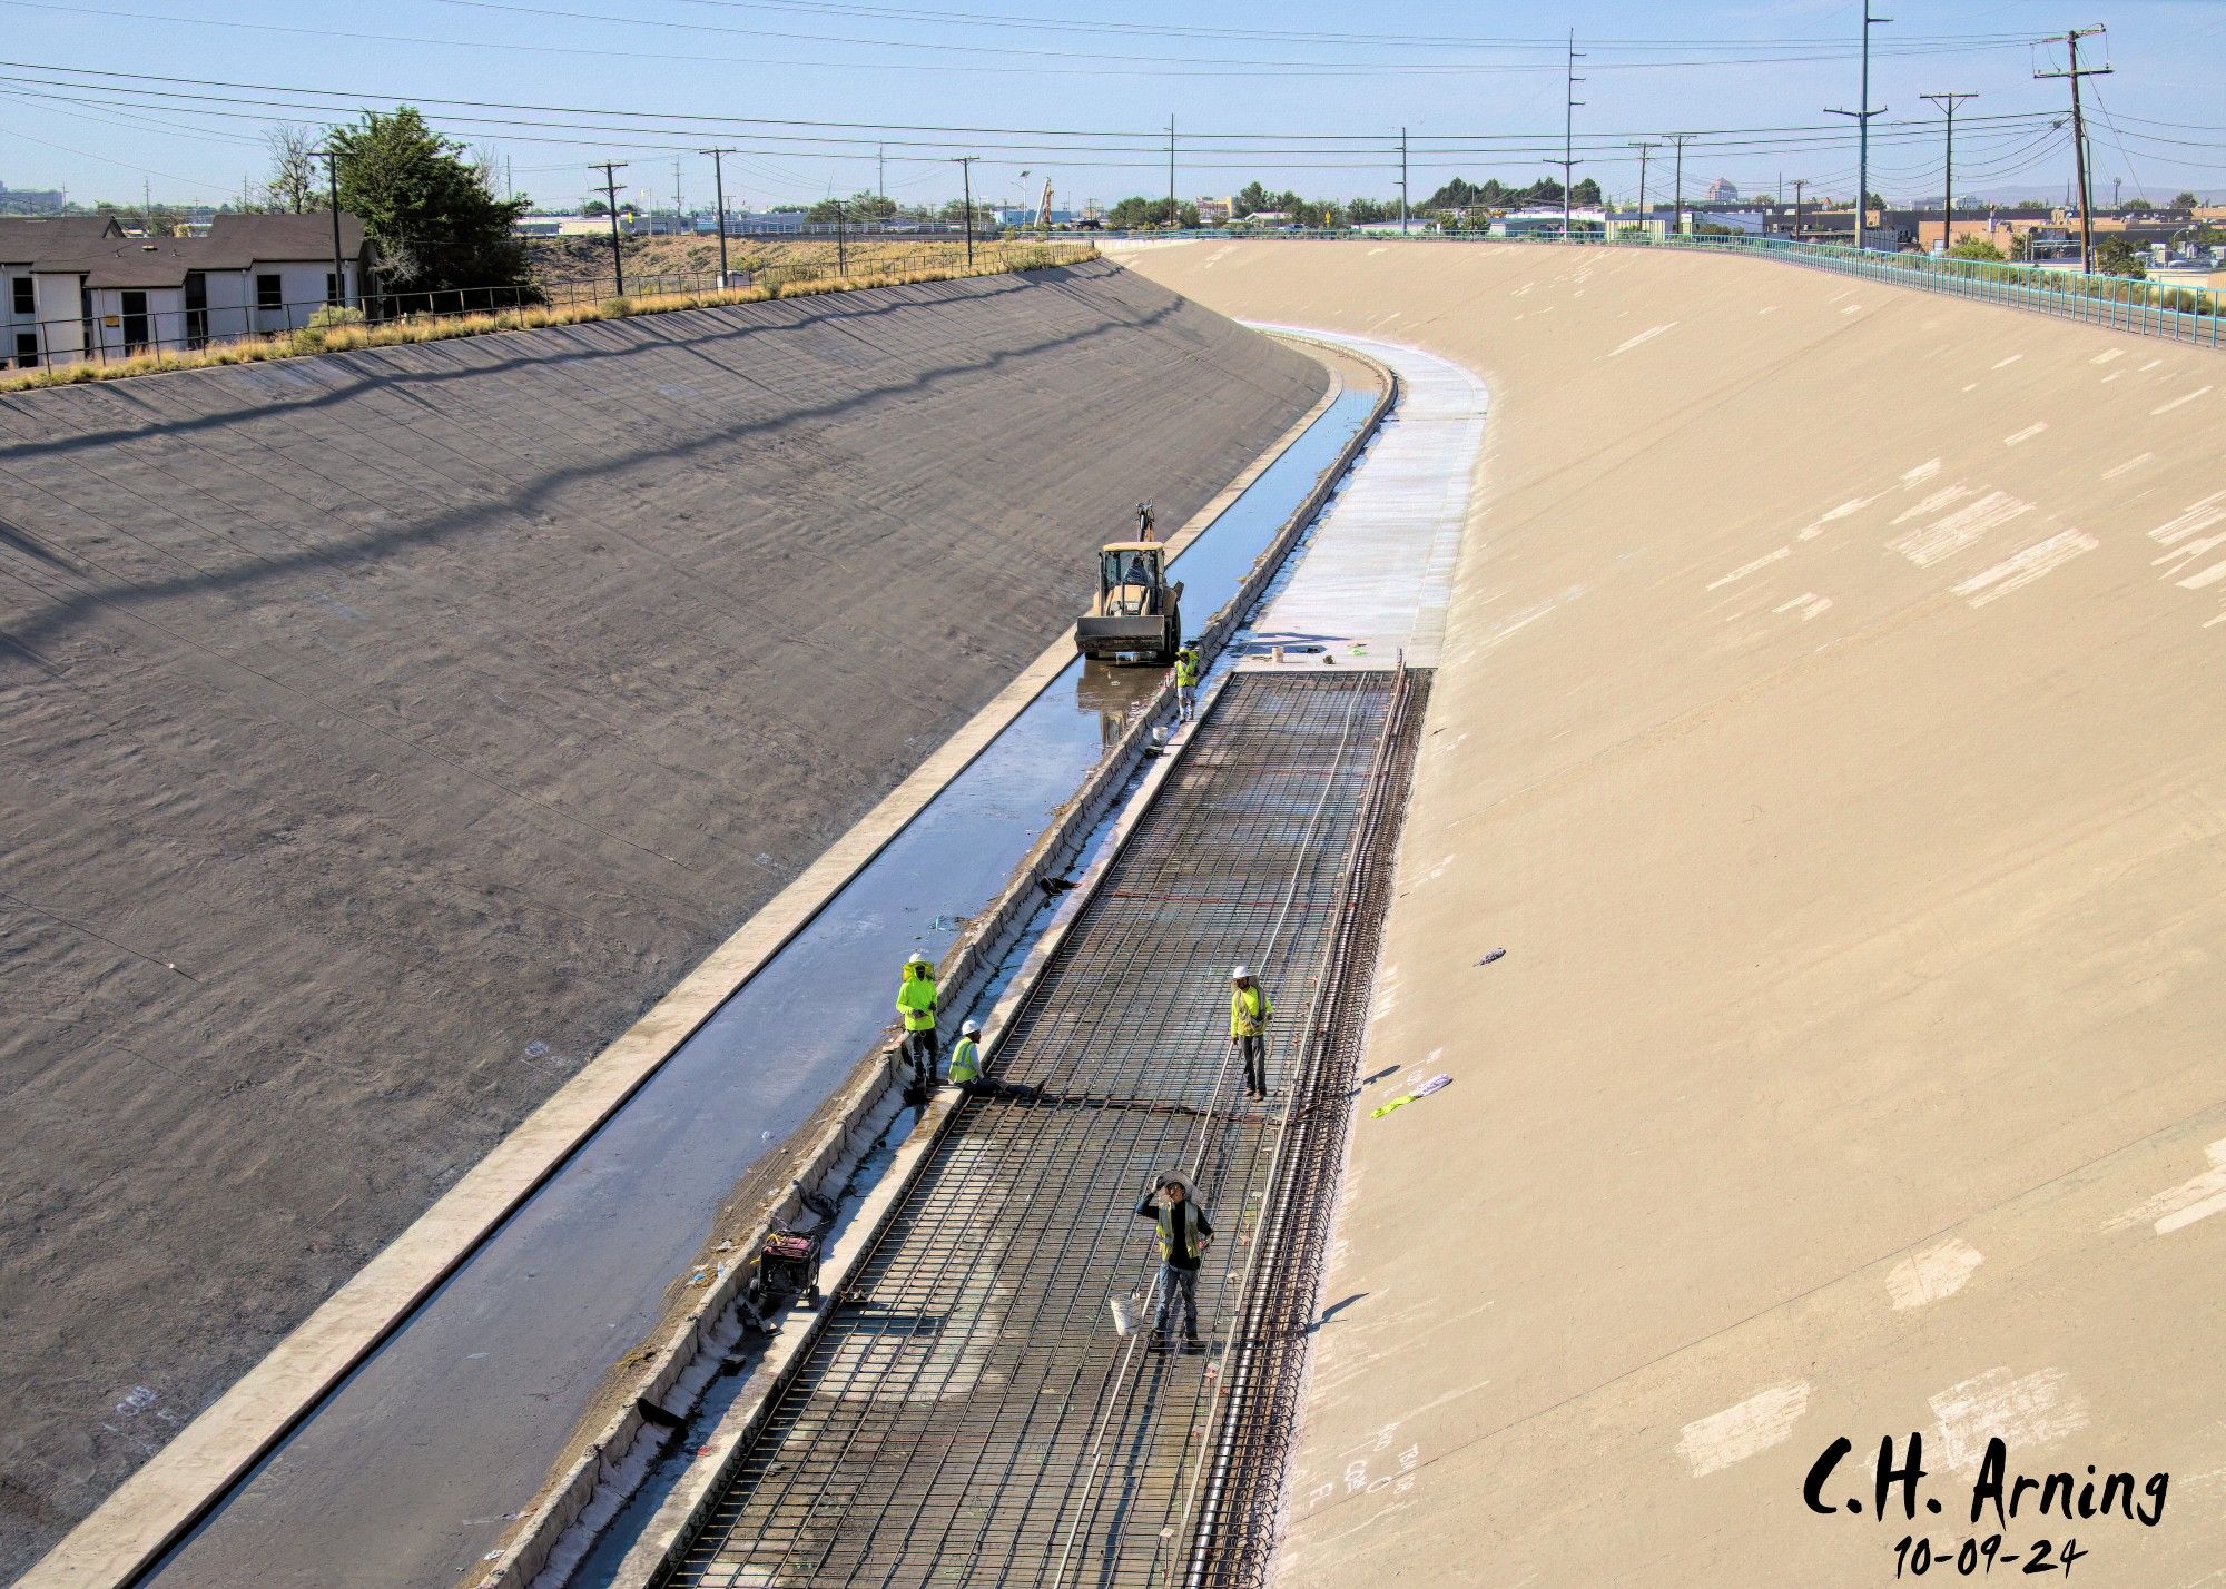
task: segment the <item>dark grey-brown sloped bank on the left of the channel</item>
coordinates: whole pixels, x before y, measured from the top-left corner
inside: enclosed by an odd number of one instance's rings
[[[0,1578],[1322,385],[1091,265],[0,398]]]

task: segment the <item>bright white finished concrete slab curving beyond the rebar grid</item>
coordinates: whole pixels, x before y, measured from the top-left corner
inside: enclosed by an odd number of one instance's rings
[[[1367,467],[1349,476],[1307,539],[1307,554],[1269,596],[1251,643],[1329,645],[1340,663],[1391,665],[1405,652],[1409,665],[1436,665],[1485,445],[1485,383],[1402,343],[1302,325],[1262,329],[1351,347],[1398,374],[1400,398],[1369,443]],[[1289,652],[1293,663],[1300,657]]]

